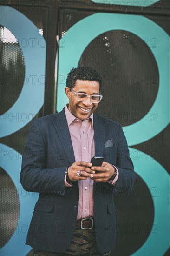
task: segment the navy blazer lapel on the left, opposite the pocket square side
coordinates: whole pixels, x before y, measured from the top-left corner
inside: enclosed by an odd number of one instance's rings
[[[52,121],[65,150],[68,162],[72,165],[72,163],[75,162],[75,157],[64,108],[61,112],[54,115],[54,119]]]

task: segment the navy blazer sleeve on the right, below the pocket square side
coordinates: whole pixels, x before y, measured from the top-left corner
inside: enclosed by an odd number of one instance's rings
[[[118,180],[116,185],[108,184],[107,189],[113,189],[114,193],[131,192],[137,182],[137,174],[134,172],[133,162],[129,155],[129,149],[122,126],[119,124],[118,133],[118,148],[117,148],[117,160],[116,168],[118,168]],[[111,188],[112,186],[112,188]]]

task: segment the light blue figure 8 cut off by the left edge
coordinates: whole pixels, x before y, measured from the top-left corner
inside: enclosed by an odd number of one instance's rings
[[[4,137],[23,128],[33,119],[33,116],[39,112],[44,104],[45,84],[43,81],[32,84],[31,78],[33,75],[37,78],[45,77],[46,47],[42,47],[42,43],[39,45],[39,42],[44,40],[44,38],[39,34],[37,27],[25,15],[12,7],[0,6],[0,24],[7,27],[19,42],[22,39],[30,42],[27,47],[20,45],[26,66],[25,77],[29,78],[29,82],[24,83],[20,96],[14,105],[5,114],[0,116],[0,137]],[[34,44],[32,44],[32,40],[34,40]],[[24,114],[28,117],[25,122],[21,118],[11,121],[11,115],[21,117]],[[2,168],[11,177],[16,188],[22,189],[20,184],[21,155],[13,150],[13,148],[3,144],[0,144],[0,149]],[[18,153],[19,159],[11,157],[11,155],[16,153]],[[2,256],[23,256],[31,249],[29,245],[25,245],[27,232],[22,230],[22,228],[28,229],[33,214],[33,206],[38,199],[38,193],[28,193],[26,198],[19,193],[19,199],[20,219],[17,225],[19,232],[18,234],[14,232],[11,239],[0,249]]]

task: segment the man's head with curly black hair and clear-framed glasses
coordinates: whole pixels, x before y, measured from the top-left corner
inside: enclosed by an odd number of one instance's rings
[[[96,70],[91,67],[73,68],[67,76],[65,87],[69,111],[80,120],[87,119],[98,107],[101,86],[101,76]]]

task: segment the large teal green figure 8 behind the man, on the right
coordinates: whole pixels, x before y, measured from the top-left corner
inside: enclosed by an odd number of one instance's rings
[[[59,48],[57,111],[67,103],[63,84],[72,67],[78,67],[78,61],[87,45],[99,34],[110,30],[124,30],[137,34],[142,40],[157,38],[157,48],[150,50],[155,56],[159,70],[159,90],[157,98],[148,115],[157,113],[157,123],[147,122],[145,118],[124,127],[128,145],[136,145],[149,140],[160,133],[169,123],[169,85],[170,85],[170,38],[169,35],[153,21],[139,15],[96,13],[80,20],[72,26],[62,39]],[[64,44],[63,44],[64,40]],[[64,47],[63,47],[64,46]],[[73,49],[72,51],[70,49]],[[59,79],[58,79],[59,80]],[[130,152],[132,149],[130,148]],[[157,187],[158,196],[153,197],[157,236],[150,234],[144,245],[133,256],[160,256],[169,247],[169,175],[156,161],[146,159],[143,152],[138,151],[140,158],[134,161],[136,172],[144,179],[149,188]],[[147,161],[146,161],[147,160]],[[161,182],[157,177],[161,173]]]

